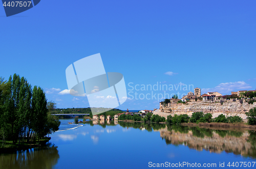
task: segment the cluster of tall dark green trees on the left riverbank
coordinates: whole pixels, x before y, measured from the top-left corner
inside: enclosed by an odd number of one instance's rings
[[[0,77],[0,136],[13,144],[31,143],[36,138],[59,129],[60,122],[51,116],[54,102],[47,102],[45,92],[17,74],[8,81]]]

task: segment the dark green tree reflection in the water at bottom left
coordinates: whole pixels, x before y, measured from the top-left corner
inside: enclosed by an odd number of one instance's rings
[[[0,168],[42,168],[50,169],[58,162],[59,154],[55,145],[31,148],[12,154],[0,154]]]

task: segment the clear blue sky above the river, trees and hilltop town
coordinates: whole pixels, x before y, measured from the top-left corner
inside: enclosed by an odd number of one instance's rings
[[[159,108],[164,90],[141,88],[160,82],[182,85],[165,91],[180,98],[193,91],[184,85],[223,95],[255,90],[255,7],[255,1],[44,0],[10,17],[2,7],[0,76],[26,77],[59,108],[89,107],[86,97],[60,92],[68,89],[66,68],[96,53],[106,72],[124,76],[129,98],[120,109]],[[150,99],[142,99],[146,94]]]

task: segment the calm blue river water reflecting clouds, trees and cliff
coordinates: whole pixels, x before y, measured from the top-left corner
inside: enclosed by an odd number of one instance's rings
[[[195,163],[216,163],[211,168],[239,164],[236,168],[240,168],[243,162],[251,167],[241,168],[256,167],[252,167],[256,161],[253,131],[113,121],[77,126],[68,122],[73,121],[61,120],[62,131],[51,135],[48,147],[1,154],[0,168],[149,168],[149,162],[171,167],[190,163],[190,167],[183,166],[186,168],[194,168]]]

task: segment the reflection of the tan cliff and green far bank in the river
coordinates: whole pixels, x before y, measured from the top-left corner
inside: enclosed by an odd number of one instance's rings
[[[92,123],[92,122],[87,122]],[[158,131],[166,144],[185,145],[197,151],[206,150],[209,152],[227,152],[242,155],[244,157],[256,158],[256,132],[248,130],[224,130],[221,128],[199,128],[177,125],[166,125],[159,123],[126,123],[122,121],[108,121],[99,123],[100,126],[113,126],[119,124],[123,131],[129,128],[147,130],[148,132]],[[114,132],[109,130],[108,133]],[[94,143],[98,137],[93,137]]]

